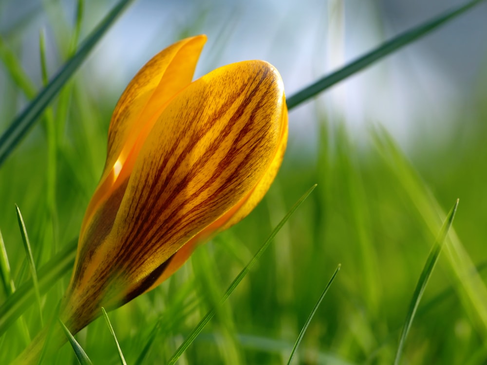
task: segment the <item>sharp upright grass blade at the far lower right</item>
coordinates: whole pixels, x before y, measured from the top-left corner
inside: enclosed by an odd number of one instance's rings
[[[401,338],[399,340],[399,346],[397,347],[397,352],[394,360],[394,365],[399,364],[399,360],[401,359],[402,350],[404,348],[404,344],[406,342],[406,337],[408,337],[409,330],[411,329],[412,320],[414,318],[414,314],[418,309],[419,301],[423,296],[423,292],[428,284],[428,280],[430,279],[431,272],[434,269],[434,265],[438,260],[438,256],[440,255],[441,248],[443,247],[443,242],[445,242],[445,238],[447,237],[448,231],[450,230],[451,223],[453,222],[453,218],[455,217],[455,212],[458,207],[458,199],[453,205],[450,210],[450,213],[445,219],[443,226],[441,227],[440,233],[436,238],[436,242],[434,243],[433,247],[431,248],[430,255],[426,260],[426,264],[423,267],[423,271],[421,276],[419,277],[418,284],[416,285],[416,289],[412,295],[411,304],[409,306],[408,314],[406,315],[406,321],[404,323],[404,328],[401,333]]]

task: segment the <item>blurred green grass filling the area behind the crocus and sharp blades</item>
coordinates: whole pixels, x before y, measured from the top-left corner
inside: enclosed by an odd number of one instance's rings
[[[57,14],[53,8],[49,12]],[[66,56],[79,24],[73,25],[72,37],[57,36]],[[10,43],[12,55],[18,49],[15,42]],[[5,98],[12,101],[11,107],[0,110],[1,130],[16,115],[18,101],[24,100],[19,88],[31,85],[18,77],[21,84],[8,79],[1,85]],[[110,107],[107,100],[86,92],[89,86],[82,75],[71,82],[53,105],[55,141],[48,138],[52,137],[46,133],[48,126],[38,125],[0,168],[0,229],[13,288],[31,280],[14,204],[22,207],[35,265],[41,268],[77,236],[104,163]],[[451,137],[441,145],[419,139],[408,155],[381,128],[357,144],[345,121],[327,120],[317,113],[316,158],[293,149],[290,136],[291,148],[276,182],[244,222],[198,249],[191,263],[168,282],[110,313],[128,364],[168,359],[272,227],[314,183],[318,183],[315,192],[279,232],[273,249],[263,254],[179,364],[285,363],[323,290],[322,278],[329,277],[337,263],[342,269],[334,290],[326,295],[298,350],[301,363],[393,363],[411,293],[445,219],[442,210],[456,198],[462,201],[454,222],[456,235],[446,242],[447,255],[440,257],[432,273],[403,363],[485,364],[486,271],[476,271],[472,265],[487,260],[486,87],[487,80],[479,79],[476,94],[454,121],[457,130]],[[54,170],[48,168],[53,142]],[[46,194],[53,184],[54,207]],[[49,223],[52,230],[45,227],[49,214],[56,220]],[[461,251],[458,242],[463,244]],[[68,274],[64,276],[61,289],[68,280]],[[444,291],[451,294],[431,302]],[[50,318],[61,292],[55,288],[40,292],[43,315]],[[11,294],[2,288],[0,305]],[[428,303],[432,307],[422,310]],[[40,328],[36,305],[21,320],[36,333]],[[25,347],[22,323],[0,337],[0,360],[13,358]],[[120,362],[103,318],[76,338],[94,364]],[[57,364],[73,359],[69,346],[57,354]]]

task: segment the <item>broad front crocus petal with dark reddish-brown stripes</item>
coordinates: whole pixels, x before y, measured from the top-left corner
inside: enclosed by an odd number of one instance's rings
[[[131,156],[103,249],[117,280],[136,283],[119,300],[150,288],[169,257],[259,184],[281,146],[283,94],[274,67],[247,61],[207,74],[170,102]]]

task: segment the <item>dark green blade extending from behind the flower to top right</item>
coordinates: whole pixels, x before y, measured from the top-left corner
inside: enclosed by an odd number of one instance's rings
[[[445,24],[448,21],[452,20],[453,18],[460,16],[468,9],[470,9],[471,7],[477,5],[482,1],[484,0],[469,1],[465,5],[450,10],[436,18],[433,18],[421,25],[418,25],[400,34],[399,36],[394,37],[393,39],[383,43],[381,46],[375,48],[373,51],[359,57],[355,61],[349,63],[348,65],[337,70],[336,72],[331,73],[328,76],[322,77],[318,81],[314,82],[313,84],[309,85],[303,90],[298,91],[294,95],[287,98],[286,100],[287,108],[291,110],[297,107],[301,103],[317,95],[319,92],[332,87],[333,85],[337,84],[338,82],[347,78],[348,76],[363,70],[367,66],[370,66],[375,61],[387,55],[390,55],[394,51],[412,43],[416,39],[427,35],[428,33],[436,29],[440,25]]]

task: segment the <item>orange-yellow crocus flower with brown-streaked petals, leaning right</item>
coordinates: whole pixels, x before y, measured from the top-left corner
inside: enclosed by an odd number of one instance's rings
[[[167,279],[198,242],[243,219],[276,176],[287,141],[281,76],[245,61],[191,81],[205,41],[154,56],[115,107],[59,310],[72,333]],[[35,362],[35,342],[24,363]]]

